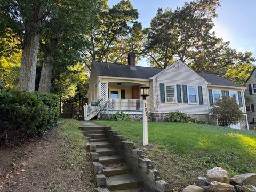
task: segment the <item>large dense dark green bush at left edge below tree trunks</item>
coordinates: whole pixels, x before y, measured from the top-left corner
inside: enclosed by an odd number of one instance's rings
[[[0,90],[0,142],[23,140],[51,129],[59,117],[55,94]]]

